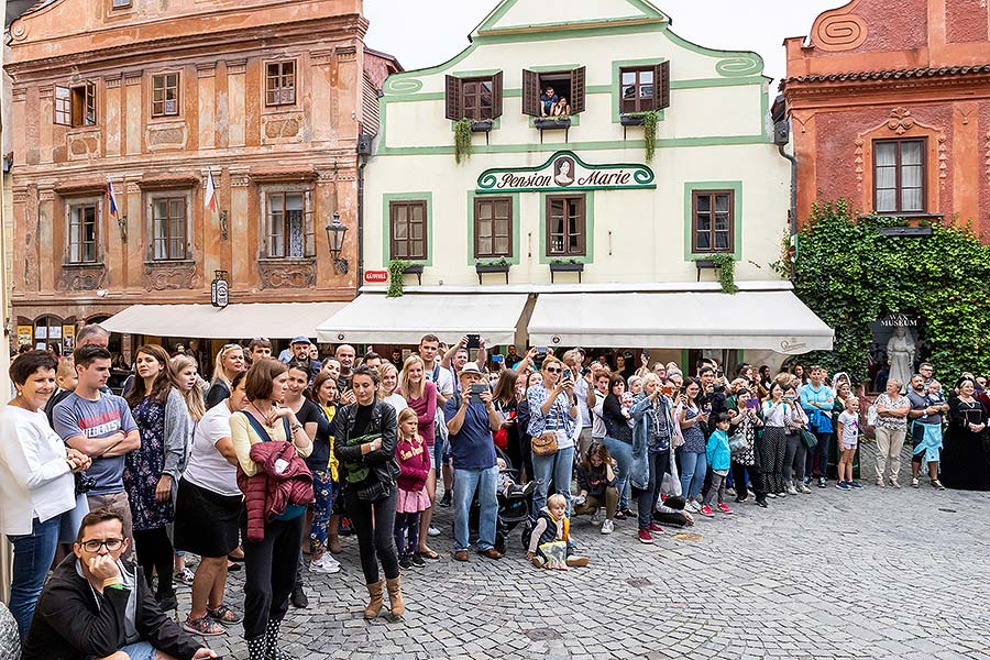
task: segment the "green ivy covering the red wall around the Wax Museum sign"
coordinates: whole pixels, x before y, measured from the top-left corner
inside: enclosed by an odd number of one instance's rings
[[[915,314],[930,359],[946,381],[964,371],[990,373],[990,246],[971,228],[931,226],[927,238],[886,237],[902,219],[859,217],[846,200],[816,204],[801,231],[794,264],[798,296],[835,329],[832,352],[805,363],[867,380],[870,322]]]

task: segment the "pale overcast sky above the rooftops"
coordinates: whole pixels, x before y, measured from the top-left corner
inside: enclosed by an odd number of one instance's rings
[[[497,0],[364,0],[371,21],[367,45],[395,55],[406,69],[441,64],[468,46],[468,34],[496,4]],[[815,16],[845,0],[653,0],[653,4],[673,19],[676,34],[713,48],[756,51],[767,64],[765,73],[780,78],[783,40],[807,34]]]

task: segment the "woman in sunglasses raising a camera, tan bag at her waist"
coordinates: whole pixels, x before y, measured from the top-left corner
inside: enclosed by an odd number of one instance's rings
[[[553,355],[548,355],[543,360],[540,372],[543,374],[542,384],[530,387],[527,393],[529,435],[532,436],[532,471],[536,480],[532,507],[538,512],[547,505],[552,481],[553,491],[564,496],[570,512],[571,476],[574,472],[574,425],[578,424],[574,380],[571,370]],[[541,447],[547,449],[540,449]]]

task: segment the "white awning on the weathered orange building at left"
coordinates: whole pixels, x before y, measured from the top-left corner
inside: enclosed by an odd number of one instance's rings
[[[316,337],[317,326],[346,302],[244,302],[132,305],[100,326],[110,332],[202,339],[292,339]]]

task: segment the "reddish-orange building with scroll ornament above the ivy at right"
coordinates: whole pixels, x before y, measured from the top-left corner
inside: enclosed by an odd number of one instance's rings
[[[798,218],[816,199],[990,238],[990,6],[854,0],[784,42]]]

